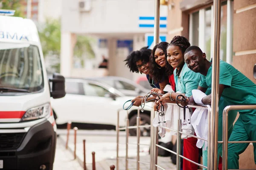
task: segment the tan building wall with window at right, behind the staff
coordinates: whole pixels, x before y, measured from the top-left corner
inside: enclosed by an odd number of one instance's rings
[[[167,41],[175,35],[189,38],[212,57],[213,0],[169,0]],[[223,0],[221,4],[220,58],[256,83],[256,0]],[[253,144],[239,159],[240,169],[256,169]]]

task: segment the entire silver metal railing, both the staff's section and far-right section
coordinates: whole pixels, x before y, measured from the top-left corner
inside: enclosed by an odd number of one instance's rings
[[[169,105],[176,105],[176,104],[170,104]],[[211,121],[211,107],[209,105],[188,105],[188,107],[191,108],[200,108],[200,109],[207,109],[208,111],[208,123]],[[224,111],[223,111],[223,141],[217,141],[217,143],[223,143],[223,163],[222,163],[222,169],[223,170],[227,170],[227,152],[228,152],[228,143],[256,143],[256,141],[228,141],[228,112],[230,110],[245,110],[245,109],[256,109],[256,105],[238,105],[238,106],[227,106],[225,107]],[[121,110],[121,109],[120,109]],[[119,111],[120,111],[119,110]],[[163,127],[161,126],[161,128],[164,128],[166,130],[171,130],[177,133],[177,153],[169,150],[165,147],[162,147],[160,145],[158,145],[158,130],[157,127],[154,127],[152,122],[155,118],[155,111],[154,108],[152,107],[151,109],[151,125],[140,125],[140,108],[138,107],[138,113],[137,113],[137,126],[129,126],[129,120],[128,120],[128,112],[127,112],[127,120],[126,120],[126,126],[124,128],[119,127],[119,111],[117,114],[117,126],[116,126],[116,134],[117,134],[117,153],[116,153],[116,169],[119,170],[119,130],[125,130],[126,131],[126,155],[125,155],[125,170],[128,170],[128,161],[134,161],[128,158],[128,137],[129,137],[129,129],[135,129],[137,128],[137,159],[136,159],[136,169],[139,170],[140,169],[140,163],[142,164],[149,164],[150,165],[150,170],[156,170],[157,168],[160,168],[162,170],[165,170],[163,167],[161,167],[160,165],[157,165],[157,149],[158,147],[162,148],[163,150],[166,150],[170,153],[173,153],[177,156],[176,158],[176,169],[180,170],[180,158],[186,159],[187,161],[192,162],[193,164],[196,164],[200,167],[206,168],[206,166],[202,165],[202,164],[198,164],[184,156],[182,156],[180,154],[180,141],[181,141],[181,134],[185,134],[188,135],[190,137],[194,137],[194,138],[198,138],[204,141],[210,141],[210,140],[214,140],[214,138],[212,138],[212,134],[208,133],[208,140],[205,138],[201,138],[195,135],[191,135],[191,134],[187,134],[187,133],[183,133],[181,130],[181,119],[177,120],[177,130],[168,128],[168,127]],[[178,107],[178,118],[180,118],[180,107]],[[140,144],[140,128],[141,127],[151,127],[151,144],[150,144],[150,163],[146,163],[146,162],[142,162],[140,161],[140,145],[144,145],[144,144]],[[211,126],[208,127],[208,132],[211,132]],[[215,128],[215,127],[214,127]],[[218,131],[218,127],[217,127],[217,131]],[[132,143],[131,143],[132,144]],[[208,146],[209,148],[209,146]],[[213,157],[208,157],[207,163],[209,164],[213,164],[214,161],[216,160],[212,160]],[[209,169],[209,166],[208,166]]]

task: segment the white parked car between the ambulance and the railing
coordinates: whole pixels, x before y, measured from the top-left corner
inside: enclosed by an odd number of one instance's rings
[[[119,90],[99,81],[66,78],[66,96],[60,99],[52,99],[51,105],[56,123],[64,124],[68,121],[86,124],[106,124],[117,123],[117,111],[122,109],[125,101],[133,99],[135,96],[125,96]],[[147,103],[141,112],[141,124],[150,124],[151,103]],[[133,106],[128,110],[130,126],[136,125],[137,107]],[[127,112],[120,111],[119,124],[125,126]],[[136,129],[130,130],[131,135],[136,135]],[[150,128],[142,129],[142,135],[149,136]]]

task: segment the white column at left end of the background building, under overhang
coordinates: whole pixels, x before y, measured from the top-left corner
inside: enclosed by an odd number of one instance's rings
[[[73,51],[76,35],[71,32],[61,32],[61,75],[68,77],[73,68]]]

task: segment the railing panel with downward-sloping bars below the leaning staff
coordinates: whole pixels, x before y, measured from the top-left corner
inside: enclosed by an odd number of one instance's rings
[[[177,104],[172,104],[172,103],[168,103],[170,105],[177,105]],[[188,107],[192,107],[192,108],[199,108],[199,109],[207,109],[208,110],[208,114],[210,117],[210,114],[211,114],[211,107],[209,105],[204,105],[204,106],[201,106],[201,105],[188,105]],[[154,116],[151,115],[151,122],[152,120],[154,119]],[[180,107],[178,107],[178,118],[180,118]],[[210,119],[208,119],[208,122],[209,122]],[[198,136],[195,136],[195,135],[190,135],[190,134],[187,134],[187,133],[183,133],[182,130],[181,130],[181,119],[178,119],[177,120],[177,130],[174,130],[174,129],[171,129],[171,128],[168,128],[168,127],[162,127],[164,129],[167,129],[167,130],[172,130],[174,132],[177,133],[177,153],[173,152],[172,150],[168,150],[167,148],[165,147],[162,147],[160,145],[157,144],[157,137],[158,137],[158,133],[157,133],[157,128],[156,127],[153,127],[154,129],[156,130],[152,130],[152,126],[151,126],[151,132],[153,131],[153,133],[151,133],[151,153],[154,154],[154,156],[152,156],[152,158],[150,159],[150,169],[151,170],[156,170],[157,167],[162,169],[162,170],[165,170],[163,167],[160,167],[159,165],[157,165],[157,147],[160,147],[170,153],[173,153],[177,156],[177,159],[176,159],[176,170],[180,170],[180,158],[183,158],[183,159],[186,159],[187,161],[190,161],[192,162],[193,164],[196,164],[200,167],[204,167],[204,168],[207,168],[206,166],[204,165],[201,165],[201,164],[198,164],[184,156],[182,156],[180,154],[180,141],[181,141],[181,134],[185,134],[185,135],[188,135],[190,137],[194,137],[194,138],[199,138],[201,140],[204,140],[204,141],[208,141],[207,139],[204,139],[204,138],[200,138]],[[209,126],[210,128],[210,126]],[[209,130],[210,131],[210,130]],[[210,133],[208,133],[208,139],[210,140],[211,139],[211,136],[210,136]],[[211,158],[208,158],[208,160],[211,159]]]

